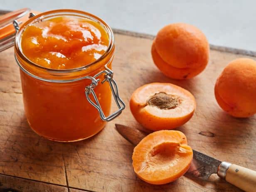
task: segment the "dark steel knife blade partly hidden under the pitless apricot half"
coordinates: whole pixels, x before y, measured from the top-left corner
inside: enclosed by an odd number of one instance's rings
[[[120,124],[116,124],[116,130],[134,146],[138,145],[140,140],[148,135],[147,133],[136,128],[130,128]],[[212,173],[217,173],[220,164],[221,161],[193,150],[193,160],[186,175],[192,175],[202,180],[208,180]]]

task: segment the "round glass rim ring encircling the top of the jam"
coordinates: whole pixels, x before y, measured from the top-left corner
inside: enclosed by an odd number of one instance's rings
[[[101,55],[101,57],[99,57],[98,59],[96,59],[94,62],[91,62],[90,64],[86,64],[84,66],[80,66],[77,68],[73,68],[73,69],[51,69],[51,68],[47,68],[44,66],[40,66],[32,61],[30,61],[30,59],[28,59],[25,54],[23,54],[22,50],[21,50],[21,35],[23,30],[25,30],[25,28],[27,27],[27,25],[34,23],[34,22],[40,22],[40,20],[43,20],[45,18],[49,18],[49,17],[57,17],[57,16],[65,16],[65,15],[73,15],[73,16],[79,16],[79,17],[84,17],[87,19],[91,19],[94,20],[96,22],[99,22],[99,24],[103,25],[104,29],[106,30],[108,37],[109,37],[109,43],[108,43],[108,48],[106,49],[106,52],[104,52],[104,54]],[[45,17],[47,16],[47,17]],[[77,71],[81,71],[84,69],[88,69],[90,66],[93,66],[95,64],[97,64],[98,62],[101,62],[103,59],[105,59],[108,54],[112,51],[114,47],[114,34],[113,31],[111,29],[111,27],[109,27],[109,25],[102,20],[101,18],[89,13],[89,12],[84,12],[84,11],[80,11],[80,10],[72,10],[72,9],[59,9],[59,10],[51,10],[51,11],[47,11],[47,12],[42,12],[34,17],[31,17],[29,20],[27,20],[27,22],[25,22],[19,29],[19,31],[16,34],[16,38],[15,38],[15,52],[17,52],[17,54],[19,54],[19,56],[22,58],[23,61],[25,61],[26,63],[35,66],[39,69],[43,69],[43,70],[47,70],[49,72],[57,72],[57,73],[71,73],[71,72],[77,72]],[[16,59],[17,60],[17,59]]]

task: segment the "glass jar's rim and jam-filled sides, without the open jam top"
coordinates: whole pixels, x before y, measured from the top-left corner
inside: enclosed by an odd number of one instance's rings
[[[106,52],[95,62],[75,69],[49,69],[27,59],[21,49],[26,26],[60,16],[98,22],[109,37]],[[27,122],[37,134],[54,141],[77,141],[95,135],[125,108],[111,71],[115,49],[111,28],[100,18],[78,10],[53,10],[30,17],[21,27],[14,21],[15,59],[20,66]],[[109,115],[112,94],[118,111]]]

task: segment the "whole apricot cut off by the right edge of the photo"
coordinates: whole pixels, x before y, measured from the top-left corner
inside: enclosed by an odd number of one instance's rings
[[[231,116],[246,118],[256,113],[256,61],[240,58],[230,62],[214,87],[219,106]]]

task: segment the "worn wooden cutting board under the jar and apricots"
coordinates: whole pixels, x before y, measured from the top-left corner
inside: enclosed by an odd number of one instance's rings
[[[129,110],[130,95],[139,86],[152,82],[177,84],[197,101],[192,119],[177,128],[187,135],[189,145],[219,160],[256,170],[256,116],[233,118],[219,108],[214,97],[214,84],[224,66],[238,57],[256,59],[256,53],[212,46],[202,74],[175,81],[153,64],[153,36],[115,32],[113,71],[126,110],[93,138],[76,143],[53,142],[30,129],[13,48],[0,53],[0,191],[240,191],[216,176],[207,182],[182,176],[159,186],[143,182],[133,172],[133,146],[116,132],[114,124],[141,128]]]

